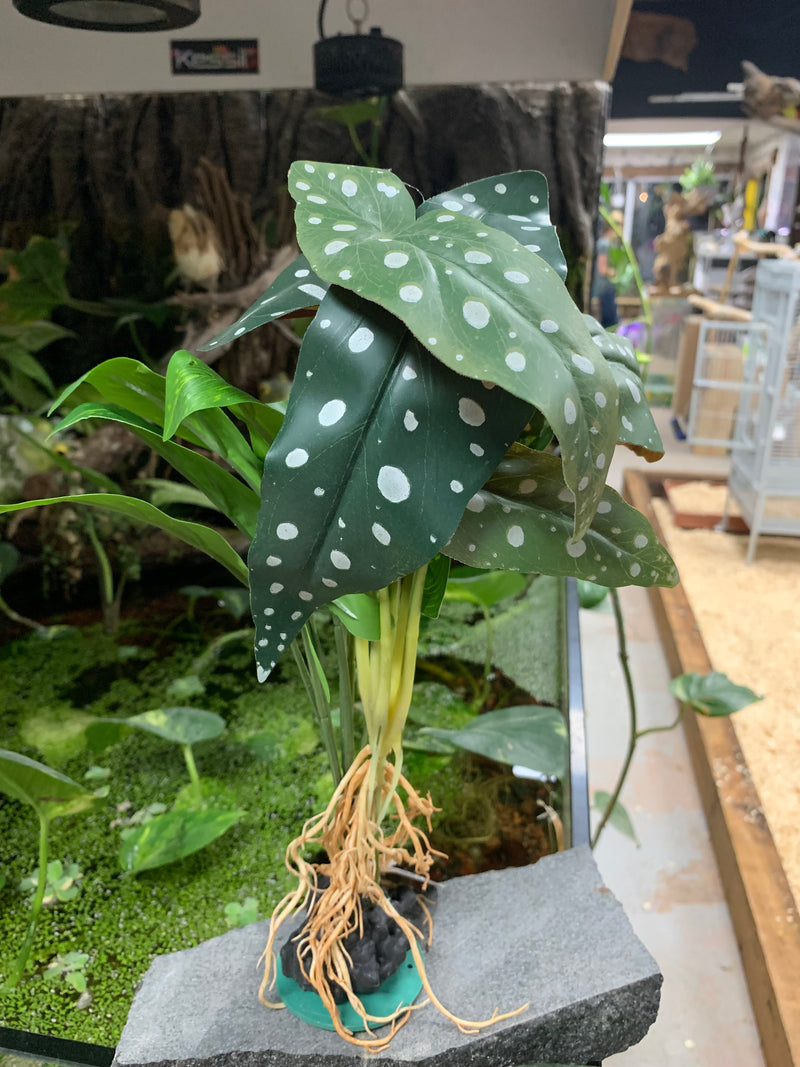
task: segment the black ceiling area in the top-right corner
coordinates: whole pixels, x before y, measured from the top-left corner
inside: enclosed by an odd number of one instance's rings
[[[800,0],[636,0],[634,12],[676,15],[694,23],[688,70],[663,62],[620,60],[611,114],[637,117],[737,117],[739,103],[653,105],[654,94],[722,92],[741,81],[741,60],[783,77],[800,77]]]

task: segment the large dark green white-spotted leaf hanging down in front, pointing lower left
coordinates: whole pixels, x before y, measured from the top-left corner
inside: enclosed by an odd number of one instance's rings
[[[332,286],[265,462],[247,560],[259,678],[316,607],[432,559],[529,414]]]

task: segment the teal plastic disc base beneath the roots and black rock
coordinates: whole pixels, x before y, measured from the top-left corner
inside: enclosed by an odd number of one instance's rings
[[[281,968],[281,956],[277,960],[277,977],[275,985],[281,994],[281,1000],[286,1007],[298,1019],[310,1023],[319,1030],[333,1030],[334,1024],[331,1013],[322,1003],[319,993],[311,990],[301,989],[294,978],[287,978]],[[414,1003],[419,990],[422,988],[422,980],[419,976],[417,965],[411,949],[406,953],[405,959],[395,973],[386,978],[381,988],[374,993],[362,993],[361,1002],[364,1004],[369,1015],[385,1018],[393,1015],[398,1008],[409,1007]],[[353,1033],[363,1032],[366,1026],[364,1019],[351,1007],[348,1001],[338,1005],[339,1018],[348,1030]],[[380,1025],[379,1023],[374,1024]]]

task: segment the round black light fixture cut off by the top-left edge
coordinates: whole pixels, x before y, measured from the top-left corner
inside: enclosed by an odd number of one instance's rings
[[[177,30],[199,18],[199,0],[14,0],[20,15],[76,30]]]

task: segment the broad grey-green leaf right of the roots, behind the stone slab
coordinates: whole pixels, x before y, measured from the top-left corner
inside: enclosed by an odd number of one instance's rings
[[[498,763],[527,767],[546,778],[563,778],[566,774],[566,727],[557,707],[503,707],[477,715],[461,730],[428,727],[419,733]]]

